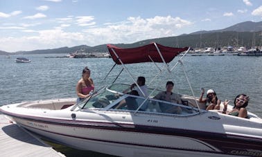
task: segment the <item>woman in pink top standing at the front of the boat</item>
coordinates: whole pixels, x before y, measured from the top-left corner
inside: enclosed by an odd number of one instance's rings
[[[76,84],[76,94],[78,95],[78,102],[81,102],[85,98],[89,98],[92,91],[94,91],[94,82],[90,77],[91,71],[87,66],[82,70],[82,78]]]

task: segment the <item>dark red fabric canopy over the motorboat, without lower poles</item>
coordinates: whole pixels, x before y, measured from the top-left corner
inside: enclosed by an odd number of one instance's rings
[[[188,48],[171,48],[160,44],[151,43],[137,48],[119,48],[107,44],[107,48],[116,64],[132,64],[141,62],[171,62],[176,55]],[[163,60],[164,59],[164,60]]]

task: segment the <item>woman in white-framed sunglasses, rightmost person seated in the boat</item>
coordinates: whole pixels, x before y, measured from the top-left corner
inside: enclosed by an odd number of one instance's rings
[[[224,109],[222,113],[232,115],[232,116],[238,116],[241,118],[247,118],[247,107],[248,101],[250,98],[245,94],[239,94],[236,96],[234,100],[234,107],[232,111],[227,112],[227,104],[230,102],[230,100],[225,100],[224,102]]]

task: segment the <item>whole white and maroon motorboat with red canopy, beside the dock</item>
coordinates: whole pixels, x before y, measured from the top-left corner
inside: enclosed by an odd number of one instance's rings
[[[132,78],[132,66],[152,62],[159,67],[150,82],[161,73],[174,68],[186,68],[182,59],[190,48],[171,48],[152,43],[137,48],[107,45],[114,66],[121,70],[111,84],[101,87],[91,97],[76,104],[76,98],[37,100],[7,104],[1,113],[12,122],[60,142],[69,147],[98,151],[114,156],[261,156],[262,120],[248,112],[248,118],[238,118],[221,110],[206,111],[205,104],[192,95],[180,94],[182,103],[157,100],[159,85],[148,95],[126,93],[129,84],[116,83],[124,71]],[[171,66],[179,53],[184,55]],[[162,77],[162,76],[161,76]],[[186,75],[186,80],[189,79]],[[125,82],[127,83],[127,82]],[[138,90],[143,93],[137,84]],[[189,87],[192,89],[190,82]],[[120,105],[121,104],[121,105]],[[173,107],[174,112],[161,110]],[[177,110],[176,110],[177,109]],[[179,110],[178,110],[179,109]],[[227,107],[231,111],[232,106]]]

